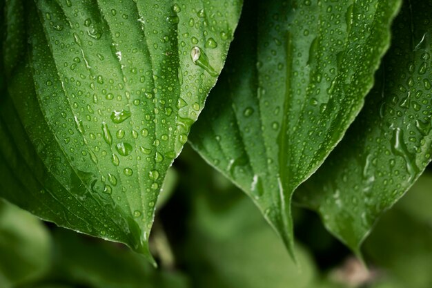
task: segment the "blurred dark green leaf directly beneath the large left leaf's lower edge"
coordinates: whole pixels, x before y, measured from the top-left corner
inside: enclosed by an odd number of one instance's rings
[[[188,287],[181,273],[155,269],[126,247],[63,229],[54,231],[53,242],[53,270],[43,282],[94,288]]]

